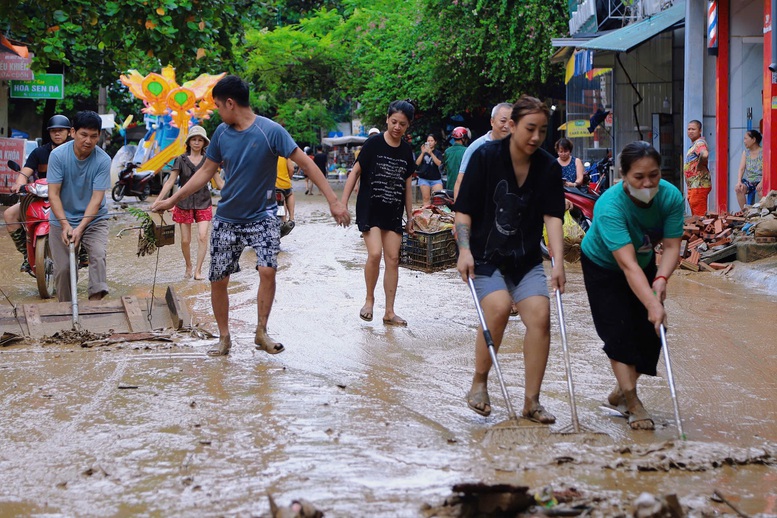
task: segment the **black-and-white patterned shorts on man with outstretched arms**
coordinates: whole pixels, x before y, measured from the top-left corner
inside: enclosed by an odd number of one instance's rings
[[[281,227],[278,218],[264,218],[251,223],[228,223],[213,220],[210,234],[211,282],[240,271],[240,256],[246,247],[256,252],[256,266],[278,268],[281,249]]]

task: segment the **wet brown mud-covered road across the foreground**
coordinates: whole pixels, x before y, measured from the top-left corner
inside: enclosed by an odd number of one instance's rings
[[[460,482],[575,488],[600,516],[630,513],[643,491],[676,494],[691,515],[733,515],[710,498],[717,489],[744,513],[777,515],[773,262],[669,282],[668,341],[687,441],[677,440],[663,363],[641,390],[656,431],[632,432],[600,408],[614,380],[578,265],[568,265],[564,295],[577,410],[587,430],[609,439],[497,433],[507,412],[493,373],[492,415],[464,402],[477,315],[455,270],[401,269],[396,310],[409,326],[381,323],[380,285],[376,318],[363,322],[358,231],[336,227],[321,196],[305,196],[299,182],[295,189],[298,223],[282,241],[269,329],[284,353],[253,348],[250,252],[232,277],[228,358],[206,356],[214,340],[184,333],[167,344],[0,348],[0,515],[256,516],[269,513],[269,492],[283,504],[305,498],[328,516],[421,516],[443,513],[437,506]],[[183,279],[178,244],[160,249],[158,265],[137,257],[134,235],[115,237],[132,224],[129,216],[112,222],[110,297],[147,297],[156,277],[157,296],[175,286],[193,323],[215,332],[207,281]],[[0,258],[10,301],[35,301],[5,232]],[[85,280],[81,297],[84,290]],[[555,309],[553,322],[543,403],[559,432],[571,420]],[[522,336],[512,319],[500,351],[516,404]]]

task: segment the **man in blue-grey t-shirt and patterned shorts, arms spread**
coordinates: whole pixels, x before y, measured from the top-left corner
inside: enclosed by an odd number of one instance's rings
[[[259,322],[254,343],[270,354],[284,350],[267,334],[275,298],[275,273],[280,250],[280,224],[276,218],[275,179],[278,157],[293,160],[318,186],[329,202],[338,225],[351,222],[348,209],[337,199],[326,177],[297,146],[291,135],[270,119],[258,116],[248,102],[248,84],[237,76],[225,76],[213,87],[213,100],[224,122],[211,137],[205,164],[174,195],[157,199],[151,210],[164,212],[181,199],[205,185],[221,166],[224,188],[221,190],[213,232],[210,237],[211,305],[219,328],[219,342],[208,351],[213,356],[229,354],[229,276],[240,271],[243,249],[256,251],[259,290],[256,296]]]

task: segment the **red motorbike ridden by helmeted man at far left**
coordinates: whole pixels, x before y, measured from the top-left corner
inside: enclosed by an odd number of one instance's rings
[[[13,160],[8,167],[21,171],[21,166]],[[30,263],[30,275],[38,282],[41,298],[54,295],[54,260],[49,247],[49,186],[45,179],[35,180],[19,188],[19,204],[24,216],[24,230],[27,233],[27,261]]]

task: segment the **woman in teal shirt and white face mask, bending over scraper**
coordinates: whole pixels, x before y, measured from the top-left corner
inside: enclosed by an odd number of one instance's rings
[[[647,142],[623,149],[623,181],[596,202],[593,224],[581,245],[594,325],[618,381],[608,400],[628,415],[635,430],[654,427],[637,397],[637,379],[656,375],[666,284],[677,266],[683,235],[683,196],[661,179],[660,164],[661,156]],[[656,267],[659,243],[663,255]]]

